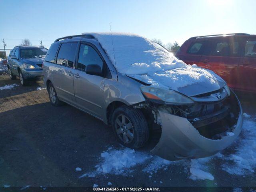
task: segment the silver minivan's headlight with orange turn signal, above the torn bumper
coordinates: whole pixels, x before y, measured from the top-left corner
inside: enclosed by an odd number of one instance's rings
[[[162,100],[168,104],[174,105],[194,104],[194,101],[190,98],[172,90],[154,88],[151,86],[142,86],[141,90],[144,96],[149,99]]]

